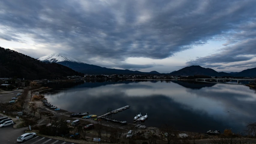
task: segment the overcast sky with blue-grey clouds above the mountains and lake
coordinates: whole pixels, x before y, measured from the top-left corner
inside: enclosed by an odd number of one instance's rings
[[[2,0],[0,46],[108,68],[256,67],[256,1]]]

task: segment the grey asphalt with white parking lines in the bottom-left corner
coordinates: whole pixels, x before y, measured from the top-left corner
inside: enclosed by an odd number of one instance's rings
[[[17,137],[25,134],[27,128],[14,129],[12,126],[0,128],[0,143],[1,144],[13,144],[18,143]],[[24,142],[26,144],[76,144],[71,142],[65,142],[61,140],[50,139],[47,137],[37,136]]]

